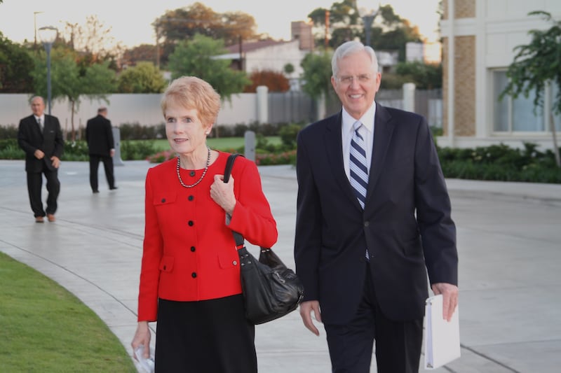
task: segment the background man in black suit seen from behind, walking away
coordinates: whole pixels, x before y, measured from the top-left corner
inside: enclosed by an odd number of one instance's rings
[[[103,162],[105,177],[109,190],[114,190],[115,176],[113,174],[113,156],[115,155],[115,142],[111,121],[107,119],[107,108],[97,109],[97,116],[88,120],[86,125],[86,141],[90,152],[90,186],[94,193],[97,189],[97,168],[100,160]]]

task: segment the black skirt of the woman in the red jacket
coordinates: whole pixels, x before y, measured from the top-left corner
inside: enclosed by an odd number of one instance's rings
[[[242,295],[200,302],[159,300],[156,373],[257,372],[255,325]]]

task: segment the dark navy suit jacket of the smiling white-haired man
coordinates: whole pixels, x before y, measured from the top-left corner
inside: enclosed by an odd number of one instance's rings
[[[295,262],[304,300],[348,323],[363,295],[365,248],[377,301],[394,321],[424,316],[431,283],[457,285],[456,228],[435,145],[420,115],[377,104],[364,211],[342,157],[342,114],[298,136]]]

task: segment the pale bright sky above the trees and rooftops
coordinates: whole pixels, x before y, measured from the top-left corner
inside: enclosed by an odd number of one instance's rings
[[[439,0],[392,0],[379,2],[358,0],[359,8],[378,8],[379,4],[391,4],[393,10],[419,27],[421,35],[435,41],[438,35]],[[186,0],[4,0],[0,3],[0,31],[4,37],[21,43],[34,40],[36,28],[55,26],[64,28],[66,22],[85,24],[88,15],[97,15],[104,27],[111,27],[110,36],[127,48],[142,43],[155,44],[154,20],[166,10],[189,6],[196,1]],[[201,0],[216,13],[241,11],[255,18],[258,33],[272,38],[290,40],[290,22],[306,21],[307,15],[316,8],[330,8],[334,0]]]

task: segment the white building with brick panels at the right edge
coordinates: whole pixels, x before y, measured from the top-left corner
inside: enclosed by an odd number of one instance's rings
[[[530,41],[531,29],[551,24],[534,10],[561,19],[560,0],[442,0],[443,129],[440,146],[473,148],[493,143],[520,147],[524,141],[552,148],[548,123],[556,88],[545,92],[544,113],[534,115],[533,97],[499,94],[514,48]],[[555,118],[561,130],[561,115]]]

